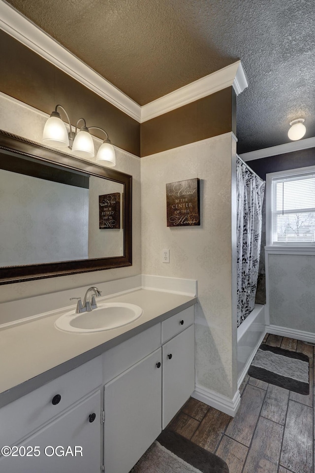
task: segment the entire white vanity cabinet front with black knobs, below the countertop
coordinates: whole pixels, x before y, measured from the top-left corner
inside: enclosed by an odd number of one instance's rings
[[[190,306],[2,407],[18,456],[0,472],[128,473],[194,390],[193,322]]]

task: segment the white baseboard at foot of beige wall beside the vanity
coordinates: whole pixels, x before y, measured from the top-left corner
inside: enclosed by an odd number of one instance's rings
[[[241,404],[240,392],[237,390],[233,399],[227,398],[221,394],[210,391],[202,386],[195,386],[195,390],[191,397],[214,407],[215,409],[221,410],[231,417],[235,417],[235,414]]]

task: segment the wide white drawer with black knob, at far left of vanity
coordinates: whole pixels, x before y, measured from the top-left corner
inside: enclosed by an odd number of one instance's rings
[[[0,409],[0,444],[12,445],[102,384],[101,357],[59,376]],[[52,404],[55,396],[58,404]],[[56,398],[58,401],[58,398]]]

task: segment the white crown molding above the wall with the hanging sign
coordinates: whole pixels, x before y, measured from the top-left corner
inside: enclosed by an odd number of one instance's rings
[[[236,63],[143,105],[141,107],[141,123],[230,86],[234,88],[237,95],[248,87],[241,61],[236,61]]]

